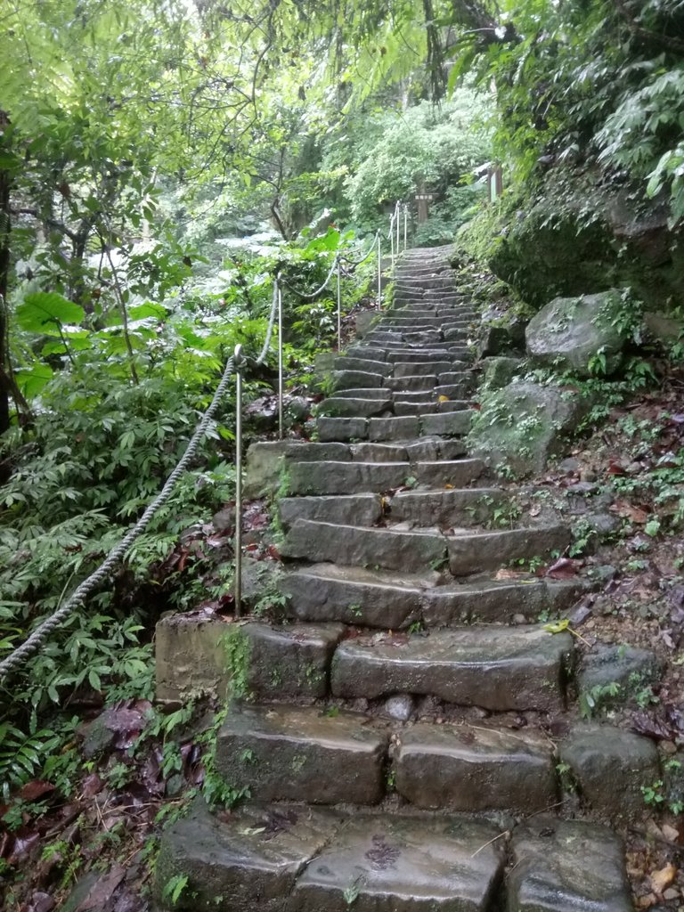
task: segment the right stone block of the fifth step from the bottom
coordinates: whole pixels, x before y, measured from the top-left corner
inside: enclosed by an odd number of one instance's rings
[[[454,576],[496,570],[513,560],[549,558],[559,554],[570,540],[570,529],[566,525],[454,534],[448,536],[449,567]]]

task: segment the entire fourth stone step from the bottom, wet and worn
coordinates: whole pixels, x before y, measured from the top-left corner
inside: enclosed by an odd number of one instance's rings
[[[562,612],[581,594],[582,580],[530,577],[440,585],[438,571],[390,573],[336,564],[316,564],[288,574],[280,583],[289,597],[286,617],[302,622],[342,621],[399,630],[457,627],[469,622],[535,620],[542,611]]]

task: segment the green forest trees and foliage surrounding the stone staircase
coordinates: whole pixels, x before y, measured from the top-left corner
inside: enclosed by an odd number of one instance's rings
[[[629,319],[681,316],[677,0],[2,0],[0,36],[0,658],[158,492],[233,347],[260,349],[274,275],[316,288],[423,184],[411,243],[458,238],[514,312],[629,285]],[[373,288],[372,264],[347,275],[347,312]],[[288,385],[309,404],[334,311],[285,295]],[[683,350],[675,334],[668,358]],[[252,399],[274,370],[248,374]],[[306,418],[293,404],[290,432]],[[229,395],[117,575],[3,682],[10,832],[80,787],[84,715],[152,699],[161,612],[230,606],[206,530],[233,498],[233,432]],[[188,772],[166,738],[183,716],[145,707],[135,744],[161,739],[167,782]]]

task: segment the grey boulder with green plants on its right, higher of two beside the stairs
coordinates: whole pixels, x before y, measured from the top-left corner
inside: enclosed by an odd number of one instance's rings
[[[589,377],[592,359],[603,352],[606,370],[615,369],[626,341],[626,333],[613,325],[620,306],[623,302],[617,289],[597,295],[554,298],[527,325],[528,355],[541,364]]]

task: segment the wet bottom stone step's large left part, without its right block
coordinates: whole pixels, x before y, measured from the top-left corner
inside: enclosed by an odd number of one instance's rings
[[[211,814],[198,802],[161,834],[155,900],[176,912],[489,912],[506,860],[504,840],[497,838],[502,833],[465,816],[254,803]],[[564,848],[559,843],[556,854]],[[565,852],[575,856],[577,847],[571,842]],[[591,865],[588,854],[586,861]],[[187,886],[171,907],[164,889],[176,876],[186,877]],[[515,908],[525,912],[526,883],[518,876],[521,905]],[[609,879],[606,891],[616,886],[617,879]],[[571,898],[577,912],[627,912]],[[562,912],[553,903],[544,908]]]

